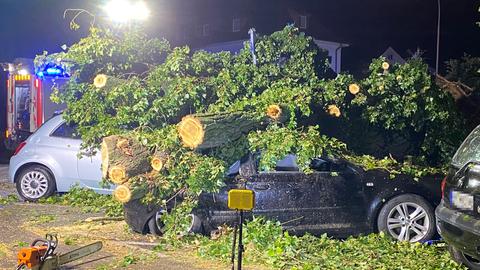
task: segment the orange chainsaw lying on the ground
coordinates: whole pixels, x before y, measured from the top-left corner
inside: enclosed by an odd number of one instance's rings
[[[56,235],[47,234],[46,239],[36,239],[29,247],[18,252],[17,270],[53,270],[61,265],[78,260],[102,249],[102,242],[98,241],[65,254],[56,254],[58,239]]]

